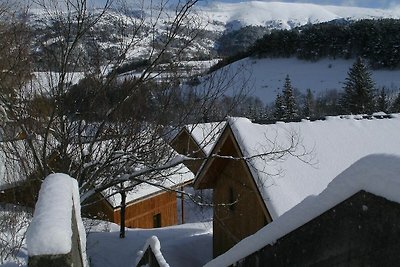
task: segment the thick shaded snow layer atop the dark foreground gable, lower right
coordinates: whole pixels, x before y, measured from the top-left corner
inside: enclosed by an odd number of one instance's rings
[[[225,254],[205,265],[230,266],[253,252],[311,221],[342,201],[364,190],[400,203],[400,157],[374,154],[366,156],[338,175],[317,196],[309,196],[294,208],[251,235]],[[363,210],[368,207],[360,207]]]

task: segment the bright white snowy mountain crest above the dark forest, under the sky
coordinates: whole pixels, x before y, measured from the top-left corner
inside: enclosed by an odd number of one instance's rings
[[[233,30],[247,25],[290,29],[335,19],[400,18],[398,10],[263,1],[216,2],[204,7],[202,12],[212,25],[226,25]]]

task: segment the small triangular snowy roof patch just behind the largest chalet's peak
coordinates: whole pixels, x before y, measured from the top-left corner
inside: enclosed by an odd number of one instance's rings
[[[189,124],[185,128],[206,155],[209,155],[225,127],[225,121]]]

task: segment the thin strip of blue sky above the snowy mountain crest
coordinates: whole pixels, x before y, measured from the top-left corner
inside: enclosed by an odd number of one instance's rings
[[[200,0],[203,3],[212,2],[246,2],[246,0]],[[345,6],[359,6],[359,7],[373,7],[373,8],[390,8],[400,5],[400,0],[259,0],[263,2],[288,2],[288,3],[314,3],[321,5],[345,5]]]

